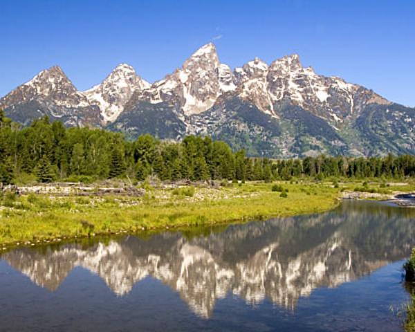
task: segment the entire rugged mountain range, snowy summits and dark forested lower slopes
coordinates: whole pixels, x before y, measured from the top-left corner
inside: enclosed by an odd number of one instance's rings
[[[298,55],[269,65],[255,58],[232,71],[214,44],[153,84],[120,64],[102,83],[78,91],[53,66],[1,98],[0,108],[24,125],[48,116],[129,138],[208,135],[249,156],[415,153],[414,108],[340,77],[317,75]]]

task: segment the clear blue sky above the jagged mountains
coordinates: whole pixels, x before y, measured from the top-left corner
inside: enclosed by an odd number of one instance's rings
[[[82,90],[121,62],[154,82],[214,42],[232,68],[298,53],[415,106],[414,0],[0,0],[0,17],[0,95],[55,64]]]

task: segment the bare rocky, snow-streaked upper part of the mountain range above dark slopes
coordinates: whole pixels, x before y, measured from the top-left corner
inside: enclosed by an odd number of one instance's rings
[[[165,102],[183,117],[208,111],[229,97],[246,100],[275,118],[279,117],[277,104],[289,100],[330,122],[342,122],[368,103],[389,103],[373,91],[339,77],[317,75],[313,68],[302,66],[297,54],[276,59],[270,65],[255,57],[232,72],[228,65],[221,64],[216,47],[210,43],[154,84],[122,63],[102,83],[80,92],[61,68],[53,66],[1,98],[0,106],[37,100],[45,103],[45,113],[55,118],[71,115],[77,109],[102,124],[102,119],[114,122],[124,109],[140,101]]]

